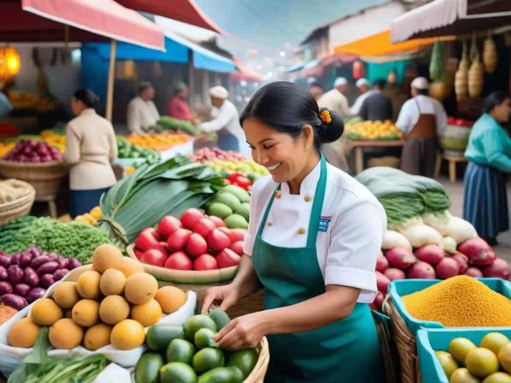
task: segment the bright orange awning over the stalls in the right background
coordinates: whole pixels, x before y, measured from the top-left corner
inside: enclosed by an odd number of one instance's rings
[[[440,40],[455,40],[456,36],[440,37]],[[390,29],[357,41],[334,47],[334,53],[356,56],[384,56],[397,53],[415,53],[422,47],[434,43],[437,38],[417,39],[397,44],[390,42]]]

